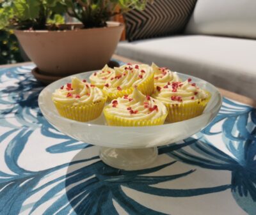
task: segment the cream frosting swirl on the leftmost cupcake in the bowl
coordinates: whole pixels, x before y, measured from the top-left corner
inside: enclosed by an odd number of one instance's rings
[[[58,101],[66,105],[85,105],[104,99],[101,89],[94,85],[72,78],[72,82],[56,89],[52,93],[52,101]]]

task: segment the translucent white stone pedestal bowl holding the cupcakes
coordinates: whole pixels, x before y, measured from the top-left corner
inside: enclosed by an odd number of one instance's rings
[[[94,72],[79,73],[47,85],[38,97],[38,104],[44,117],[56,129],[76,140],[99,145],[100,158],[111,167],[125,170],[145,168],[156,158],[157,146],[178,142],[202,130],[218,114],[221,107],[221,94],[214,85],[200,78],[177,73],[182,80],[192,78],[198,87],[211,93],[211,100],[202,115],[186,121],[143,127],[108,126],[103,114],[90,122],[61,117],[51,100],[52,93],[61,85],[70,82],[71,77],[89,80]]]

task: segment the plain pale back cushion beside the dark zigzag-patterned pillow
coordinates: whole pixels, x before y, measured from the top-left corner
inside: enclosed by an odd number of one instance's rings
[[[185,32],[256,38],[256,1],[198,0]]]

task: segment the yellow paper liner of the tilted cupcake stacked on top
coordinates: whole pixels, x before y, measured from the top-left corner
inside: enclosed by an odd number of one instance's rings
[[[154,73],[150,75],[145,81],[141,84],[138,84],[138,90],[146,96],[150,96],[154,92]],[[115,100],[116,98],[122,97],[124,95],[129,95],[133,91],[133,87],[119,91],[116,89],[113,93],[109,93],[106,90],[102,90],[105,95],[108,96],[108,101]]]

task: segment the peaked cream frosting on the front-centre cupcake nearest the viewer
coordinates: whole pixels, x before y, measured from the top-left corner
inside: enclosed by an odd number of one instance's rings
[[[106,112],[125,119],[157,119],[167,114],[166,107],[160,101],[143,95],[137,88],[129,96],[111,101]]]

